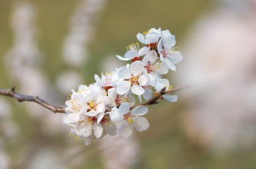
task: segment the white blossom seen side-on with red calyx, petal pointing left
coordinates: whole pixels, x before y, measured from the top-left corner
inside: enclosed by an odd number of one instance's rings
[[[126,47],[127,48],[127,47]],[[119,56],[116,55],[118,59],[120,60],[131,60],[131,61],[136,61],[136,60],[142,60],[143,55],[147,54],[147,52],[150,51],[150,48],[147,46],[144,46],[139,50],[139,44],[136,43],[136,45],[133,43],[129,45],[129,48],[127,48],[127,52],[125,53],[125,56]]]

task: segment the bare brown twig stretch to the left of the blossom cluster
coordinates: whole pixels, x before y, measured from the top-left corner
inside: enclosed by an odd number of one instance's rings
[[[64,108],[59,108],[59,107],[50,105],[46,101],[40,99],[38,96],[29,96],[29,95],[18,94],[14,91],[14,89],[15,89],[15,86],[12,87],[10,90],[0,88],[0,95],[14,97],[19,102],[22,102],[22,101],[35,102],[37,104],[40,104],[41,106],[44,106],[44,108],[51,110],[53,113],[66,113]]]

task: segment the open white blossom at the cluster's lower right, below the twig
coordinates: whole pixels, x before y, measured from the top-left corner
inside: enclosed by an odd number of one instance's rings
[[[130,136],[133,132],[133,128],[136,128],[139,132],[147,130],[150,127],[147,119],[144,117],[139,117],[148,112],[148,108],[145,106],[136,106],[130,113],[129,103],[122,103],[120,107],[113,108],[110,112],[110,118],[113,122],[123,122],[119,129],[119,134],[126,138]]]

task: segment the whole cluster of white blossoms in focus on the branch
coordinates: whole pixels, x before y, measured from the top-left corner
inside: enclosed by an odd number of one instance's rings
[[[78,91],[66,101],[66,114],[63,122],[71,126],[70,137],[76,141],[84,140],[88,145],[93,139],[117,134],[128,137],[133,128],[138,131],[147,130],[150,126],[147,119],[140,117],[148,112],[144,105],[135,105],[133,95],[149,100],[153,93],[169,90],[168,79],[161,78],[169,70],[176,71],[175,64],[182,60],[179,51],[173,47],[175,36],[169,30],[152,28],[143,34],[137,34],[138,43],[127,47],[120,60],[131,60],[131,64],[116,68],[116,71],[95,75],[95,83],[89,86],[80,85]],[[177,101],[176,95],[163,95],[164,99]],[[133,106],[133,108],[131,108]]]

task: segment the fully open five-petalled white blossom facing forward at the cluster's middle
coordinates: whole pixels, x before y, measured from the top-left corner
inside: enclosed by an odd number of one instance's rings
[[[137,60],[131,64],[130,68],[122,66],[117,70],[118,77],[125,79],[117,84],[117,94],[126,94],[130,89],[136,95],[142,95],[144,93],[142,86],[147,83],[148,79],[146,75],[141,75],[142,68],[142,62]]]

